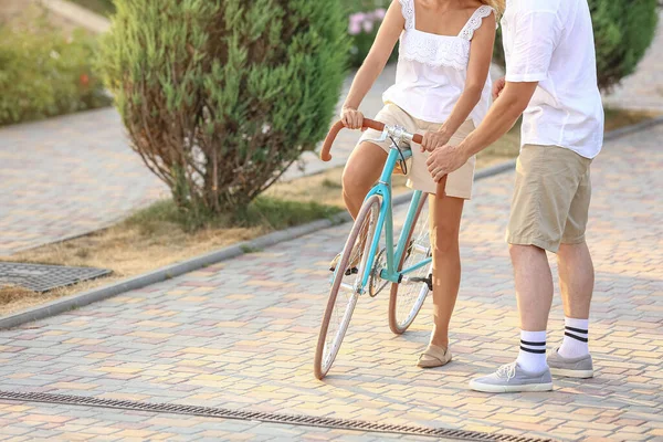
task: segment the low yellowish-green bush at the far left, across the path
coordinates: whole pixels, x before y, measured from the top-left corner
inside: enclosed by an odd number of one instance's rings
[[[95,48],[83,32],[0,28],[0,125],[109,104],[92,72]]]

